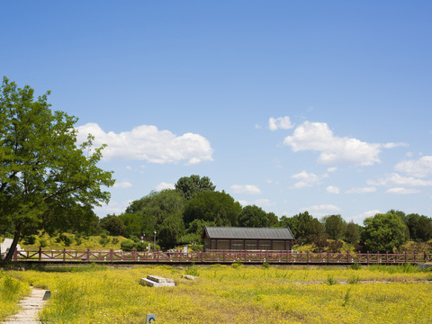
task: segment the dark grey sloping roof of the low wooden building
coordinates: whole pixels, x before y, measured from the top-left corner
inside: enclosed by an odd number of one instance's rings
[[[288,228],[205,227],[208,238],[294,239]]]

